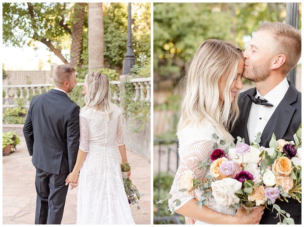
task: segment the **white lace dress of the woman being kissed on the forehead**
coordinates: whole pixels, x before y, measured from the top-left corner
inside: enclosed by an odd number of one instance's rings
[[[218,144],[220,140],[224,140],[209,122],[204,122],[204,124],[201,126],[192,125],[185,127],[177,133],[179,139],[178,153],[180,157],[180,164],[175,174],[170,191],[172,197],[171,199],[169,199],[169,208],[171,211],[173,208],[176,211],[178,208],[181,208],[192,198],[195,198],[194,195],[188,195],[186,192],[179,191],[181,189],[181,176],[186,170],[190,170],[193,174],[193,177],[198,180],[205,178],[207,175],[213,176],[210,172],[210,168],[208,168],[207,170],[198,169],[199,161],[202,161],[202,163],[204,163],[209,161],[210,159],[210,154],[213,151],[213,144],[215,143],[215,139],[212,137],[213,133],[216,133],[217,136],[219,136],[219,139],[217,139]],[[226,145],[230,144],[231,142],[232,141],[225,141]],[[219,148],[224,149],[225,147],[219,144]],[[197,198],[202,198],[202,191],[200,189],[196,189],[195,194]],[[175,206],[175,202],[173,202],[175,199],[179,199],[181,201],[181,205]],[[234,216],[236,213],[236,210],[229,208],[229,206],[218,205],[214,198],[210,198],[207,201],[206,206],[216,212],[226,215]],[[209,223],[197,220],[195,224]]]

